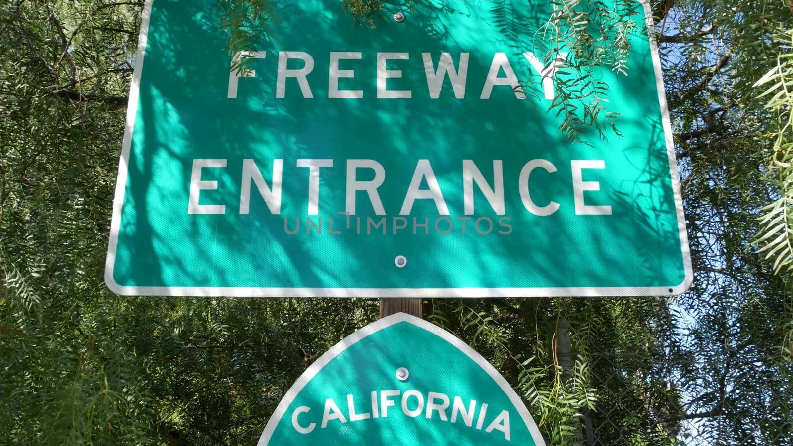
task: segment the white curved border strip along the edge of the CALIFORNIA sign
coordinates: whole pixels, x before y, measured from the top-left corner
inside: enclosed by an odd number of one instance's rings
[[[366,336],[370,336],[373,333],[377,333],[381,329],[385,329],[386,327],[390,327],[391,325],[398,324],[400,322],[408,322],[412,325],[416,325],[419,327],[419,329],[425,329],[435,336],[439,336],[442,340],[446,340],[446,342],[452,344],[459,351],[465,353],[465,355],[472,359],[473,362],[477,363],[477,365],[481,367],[482,370],[487,372],[490,378],[492,378],[493,381],[499,385],[504,394],[507,395],[507,398],[509,398],[512,406],[515,406],[515,409],[523,419],[523,423],[525,423],[527,429],[529,429],[534,443],[536,443],[537,446],[546,446],[545,440],[542,438],[542,434],[537,428],[537,424],[534,423],[534,418],[531,417],[531,413],[529,413],[528,409],[526,408],[526,404],[522,399],[520,399],[518,394],[515,393],[515,389],[513,389],[512,386],[507,383],[507,380],[504,379],[504,376],[502,376],[490,363],[488,363],[487,359],[482,357],[473,348],[470,348],[468,344],[465,344],[465,342],[460,340],[457,336],[454,336],[453,334],[440,328],[438,325],[432,324],[429,321],[424,321],[423,319],[419,319],[419,317],[411,316],[408,313],[396,313],[374,321],[370,325],[366,325],[366,327],[363,327],[357,332],[352,333],[350,336],[345,337],[339,342],[339,344],[335,344],[328,350],[328,352],[324,352],[322,356],[317,358],[316,361],[314,361],[314,363],[312,363],[311,366],[303,372],[303,375],[300,375],[300,378],[298,378],[297,381],[295,381],[295,383],[289,388],[289,391],[286,392],[284,398],[278,404],[278,407],[275,408],[275,411],[270,416],[270,419],[267,420],[267,424],[264,427],[264,432],[262,432],[262,436],[259,437],[259,443],[257,446],[267,446],[270,443],[270,437],[273,436],[275,429],[278,427],[278,423],[281,422],[286,410],[292,405],[292,402],[295,398],[297,398],[297,395],[300,394],[301,390],[303,390],[303,387],[305,387],[306,384],[308,384],[308,382],[311,381],[312,378],[314,378],[314,376],[323,369],[323,367],[328,365],[331,360],[338,356],[339,353],[347,350],[347,348],[350,348],[359,340],[366,338]]]

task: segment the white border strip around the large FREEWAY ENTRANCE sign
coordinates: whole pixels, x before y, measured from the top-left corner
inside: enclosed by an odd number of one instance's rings
[[[680,178],[677,175],[672,124],[669,120],[664,79],[661,71],[661,57],[653,24],[653,13],[649,0],[636,0],[642,3],[647,21],[650,52],[658,90],[658,101],[661,105],[661,117],[669,160],[669,174],[672,179],[675,211],[680,248],[683,255],[685,278],[676,286],[648,287],[566,287],[566,288],[260,288],[260,287],[225,287],[225,286],[123,286],[113,277],[118,248],[118,236],[121,230],[121,211],[127,187],[127,169],[129,153],[132,146],[132,130],[135,128],[140,76],[144,67],[146,40],[151,18],[151,4],[154,0],[146,0],[140,21],[140,38],[138,39],[135,71],[132,75],[132,87],[129,92],[127,107],[127,125],[124,141],[121,145],[121,160],[116,179],[116,194],[113,198],[113,217],[110,221],[110,236],[105,258],[105,285],[115,294],[125,296],[205,296],[205,297],[272,297],[272,298],[518,298],[518,297],[598,297],[598,296],[672,296],[682,294],[694,282],[694,271],[691,267],[691,251],[688,246],[683,198],[680,193]]]

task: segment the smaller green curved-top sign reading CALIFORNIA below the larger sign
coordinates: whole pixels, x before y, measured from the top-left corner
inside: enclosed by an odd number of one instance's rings
[[[405,313],[366,325],[316,359],[267,421],[259,446],[266,444],[545,446],[485,358]]]

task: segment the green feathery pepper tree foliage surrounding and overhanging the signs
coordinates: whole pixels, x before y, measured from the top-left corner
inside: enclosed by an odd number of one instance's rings
[[[547,32],[576,51],[568,69],[600,63],[630,75],[626,3],[591,4],[557,0]],[[339,7],[376,27],[383,5]],[[377,317],[375,300],[105,289],[142,7],[0,5],[2,444],[251,443],[305,367]],[[433,299],[425,317],[504,374],[550,444],[790,444],[793,4],[652,7],[693,288],[679,298]],[[266,0],[218,8],[232,53],[278,25]],[[599,26],[619,32],[605,41]],[[619,131],[607,87],[558,88],[554,107],[573,142],[612,123]],[[573,101],[588,105],[565,108]]]

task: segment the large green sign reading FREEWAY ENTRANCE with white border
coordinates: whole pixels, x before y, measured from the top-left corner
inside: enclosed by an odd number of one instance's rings
[[[390,4],[390,3],[389,3]],[[147,2],[105,279],[119,294],[676,294],[691,264],[649,6],[624,66],[551,46],[546,0],[279,0],[231,71],[216,0]],[[392,15],[401,13],[394,20]],[[572,68],[566,66],[573,66]],[[560,67],[562,67],[560,69]],[[585,71],[585,72],[584,72]],[[626,75],[618,71],[626,71]],[[587,75],[578,87],[573,79]],[[601,139],[559,131],[607,85]],[[595,86],[595,87],[592,87]],[[603,94],[600,90],[594,90]],[[600,93],[598,93],[600,91]],[[572,116],[572,115],[570,115]]]

